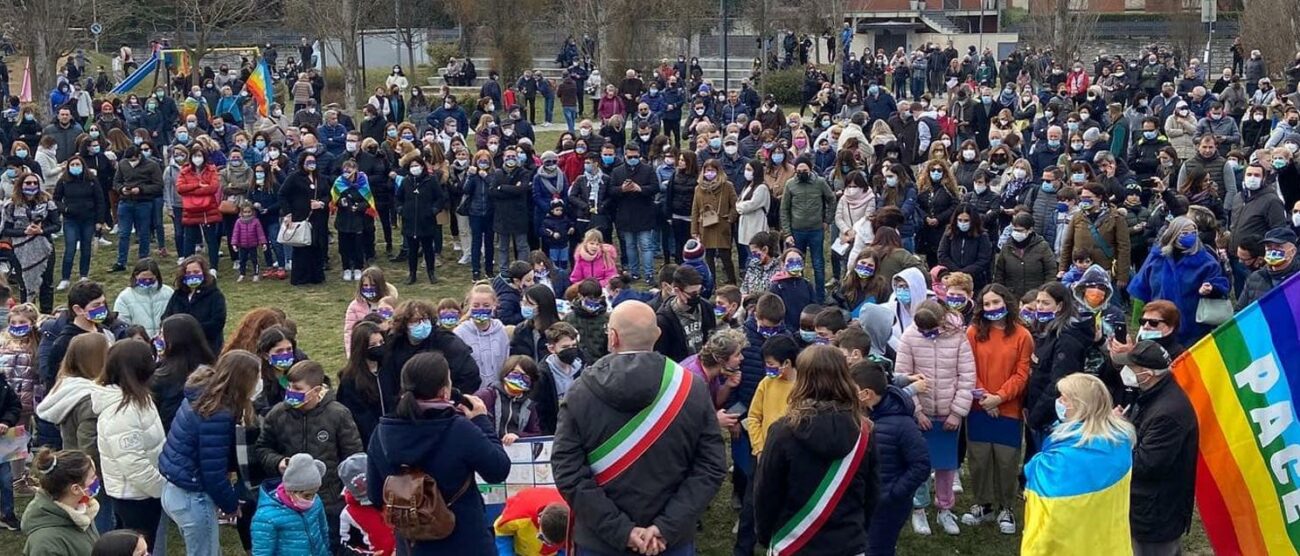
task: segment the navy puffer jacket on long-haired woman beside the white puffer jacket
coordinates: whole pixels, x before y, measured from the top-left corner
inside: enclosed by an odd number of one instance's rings
[[[231,457],[235,418],[225,409],[208,418],[200,417],[190,405],[198,398],[199,390],[185,392],[159,456],[159,472],[172,485],[204,492],[222,512],[233,513],[239,508],[239,494],[228,475],[235,468]]]

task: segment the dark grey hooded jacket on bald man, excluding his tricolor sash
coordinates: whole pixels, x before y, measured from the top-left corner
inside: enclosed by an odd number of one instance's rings
[[[693,542],[697,518],[722,486],[727,456],[718,416],[708,387],[694,378],[681,411],[642,457],[604,486],[592,478],[588,455],[651,405],[667,364],[654,352],[608,355],[564,398],[551,468],[575,508],[571,539],[578,546],[627,553],[632,527],[656,525],[668,551],[677,550]]]

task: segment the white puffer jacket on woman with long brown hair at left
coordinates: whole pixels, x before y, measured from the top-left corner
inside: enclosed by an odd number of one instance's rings
[[[159,455],[166,433],[150,401],[122,407],[122,388],[96,387],[91,407],[99,414],[100,477],[109,496],[124,500],[161,498],[166,479],[159,473]]]

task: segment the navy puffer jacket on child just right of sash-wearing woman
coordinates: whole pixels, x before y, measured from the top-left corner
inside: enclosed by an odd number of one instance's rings
[[[880,466],[880,499],[884,501],[910,500],[920,483],[930,478],[930,449],[916,426],[911,396],[896,386],[871,409],[876,423],[876,464]]]

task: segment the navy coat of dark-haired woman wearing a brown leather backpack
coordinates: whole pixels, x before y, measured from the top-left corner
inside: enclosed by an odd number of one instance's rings
[[[369,485],[384,485],[389,475],[408,465],[433,477],[443,500],[448,501],[467,482],[474,481],[474,473],[489,483],[504,482],[510,474],[510,457],[500,447],[491,418],[478,416],[468,420],[450,408],[425,409],[416,420],[384,417],[370,435],[367,453]],[[382,503],[378,496],[370,496],[370,501],[376,505]],[[442,540],[416,542],[410,553],[494,553],[490,526],[484,516],[484,498],[478,490],[467,490],[448,505],[456,514],[456,529],[451,535]]]

